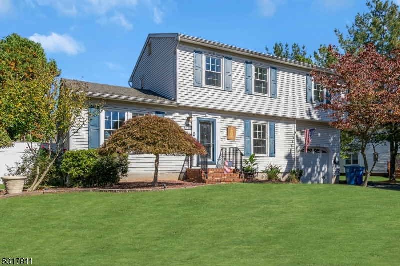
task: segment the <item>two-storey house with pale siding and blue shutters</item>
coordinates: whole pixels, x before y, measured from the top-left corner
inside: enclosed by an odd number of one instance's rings
[[[312,83],[311,70],[310,64],[182,34],[149,34],[131,88],[87,83],[88,96],[104,99],[107,111],[74,135],[69,149],[98,147],[127,119],[154,114],[199,139],[209,168],[220,165],[222,149],[237,147],[244,158],[256,154],[259,172],[274,163],[284,178],[297,167],[304,170],[302,182],[338,183],[340,131],[314,109],[324,92]],[[309,128],[316,130],[305,153],[301,130]],[[153,155],[129,160],[126,180],[152,179]],[[158,178],[178,179],[184,161],[160,156]]]

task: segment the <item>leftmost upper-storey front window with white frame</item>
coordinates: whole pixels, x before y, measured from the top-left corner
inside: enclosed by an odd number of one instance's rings
[[[223,58],[205,53],[204,61],[204,86],[222,89],[223,84]]]

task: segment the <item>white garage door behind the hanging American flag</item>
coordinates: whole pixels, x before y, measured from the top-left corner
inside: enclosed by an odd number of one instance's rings
[[[328,183],[328,152],[321,147],[300,151],[300,169],[304,171],[301,183]],[[325,177],[323,179],[322,177]]]

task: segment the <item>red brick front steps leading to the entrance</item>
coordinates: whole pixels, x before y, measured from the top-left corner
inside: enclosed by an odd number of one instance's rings
[[[186,177],[189,182],[195,181],[205,184],[245,182],[243,178],[240,178],[240,173],[235,169],[230,169],[230,173],[224,174],[223,168],[209,168],[208,178],[206,178],[203,171],[200,173],[200,169],[187,168]]]

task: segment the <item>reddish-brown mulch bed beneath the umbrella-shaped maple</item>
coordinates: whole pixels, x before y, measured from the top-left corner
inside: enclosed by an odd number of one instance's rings
[[[194,182],[186,182],[186,181],[178,181],[178,180],[159,180],[158,181],[158,186],[153,187],[153,182],[152,181],[133,181],[133,182],[121,182],[119,184],[113,185],[113,186],[104,186],[104,187],[92,187],[91,189],[97,189],[97,190],[127,190],[127,189],[143,189],[143,190],[160,190],[164,189],[164,184],[166,184],[166,189],[173,189],[173,188],[185,188],[185,187],[196,187],[196,186],[203,186],[205,184],[203,183],[194,183]],[[83,187],[50,187],[50,188],[44,188],[44,187],[39,187],[36,191],[45,191],[48,193],[51,192],[69,192],[69,191],[85,191],[88,188],[83,188]],[[27,187],[24,187],[23,192],[27,192]],[[0,195],[5,195],[6,190],[0,190]]]

